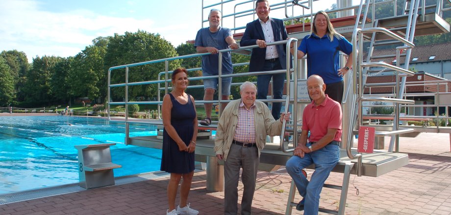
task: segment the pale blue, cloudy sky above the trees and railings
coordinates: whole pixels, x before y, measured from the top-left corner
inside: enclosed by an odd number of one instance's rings
[[[204,20],[211,8],[222,9],[225,16],[232,14],[234,5],[242,1],[203,9]],[[220,0],[205,0],[204,6],[216,2]],[[330,8],[334,2],[326,0],[318,5]],[[315,6],[318,10],[320,7]],[[29,62],[36,56],[75,56],[99,36],[138,30],[158,33],[177,47],[196,38],[202,27],[201,8],[202,0],[0,0],[0,51],[24,52]],[[296,7],[295,16],[300,15],[299,8]],[[236,7],[236,11],[248,9],[252,5]],[[270,17],[284,18],[284,11],[272,10]],[[235,25],[245,26],[253,19],[237,18]],[[204,23],[203,27],[207,26]],[[223,18],[223,26],[232,28],[233,17]]]

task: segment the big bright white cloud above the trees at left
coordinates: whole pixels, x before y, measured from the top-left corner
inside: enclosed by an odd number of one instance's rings
[[[148,30],[154,25],[150,19],[109,17],[89,10],[40,11],[32,0],[2,0],[0,4],[0,51],[23,51],[29,61],[36,55],[75,56],[99,36]],[[151,32],[159,30],[153,27]]]

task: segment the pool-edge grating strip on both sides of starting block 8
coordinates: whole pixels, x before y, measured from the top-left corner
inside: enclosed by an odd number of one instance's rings
[[[141,182],[156,178],[162,178],[169,176],[169,173],[162,172],[162,171],[154,171],[154,172],[148,172],[148,173],[140,173],[135,175],[127,175],[127,176],[121,176],[115,178],[115,185],[112,186],[118,186],[118,185],[124,185],[134,182]],[[61,194],[67,194],[72,192],[79,192],[87,190],[85,188],[82,188],[78,186],[78,183],[74,184],[67,184],[67,185],[60,185],[60,186],[53,186],[53,187],[47,187],[47,188],[37,188],[37,189],[29,189],[19,192],[13,192],[13,193],[7,193],[7,194],[0,194],[0,205],[14,203],[14,202],[22,202],[27,201],[31,199],[38,199],[38,198],[44,198],[54,195],[61,195]]]

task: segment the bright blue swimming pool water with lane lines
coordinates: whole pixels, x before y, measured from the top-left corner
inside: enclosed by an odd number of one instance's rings
[[[72,125],[70,125],[72,124]],[[130,125],[130,136],[156,135],[156,127]],[[161,150],[126,146],[125,124],[92,117],[0,117],[0,194],[78,182],[75,145],[111,146],[114,176],[160,169]]]

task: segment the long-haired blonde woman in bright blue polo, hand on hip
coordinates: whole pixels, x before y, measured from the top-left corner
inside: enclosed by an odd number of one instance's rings
[[[337,33],[326,12],[319,11],[313,18],[311,34],[302,39],[298,59],[307,54],[307,77],[319,75],[326,83],[326,94],[339,102],[343,99],[343,76],[352,66],[352,44]],[[339,68],[339,51],[348,54],[348,61]]]

